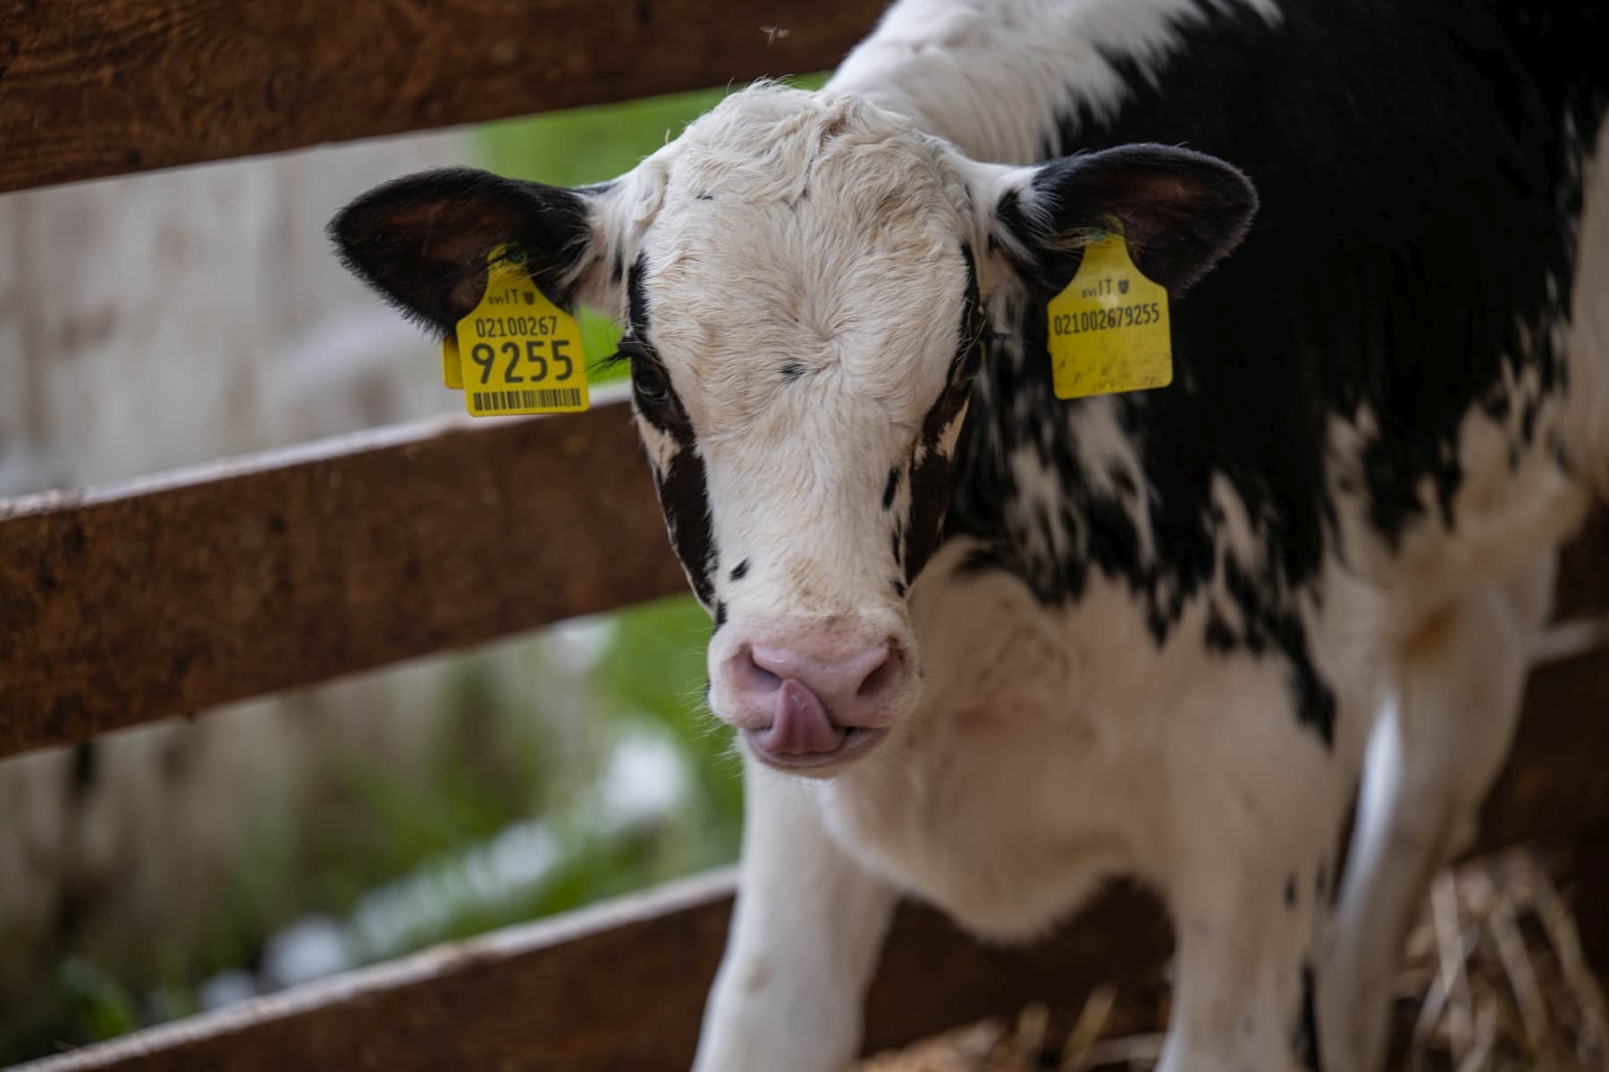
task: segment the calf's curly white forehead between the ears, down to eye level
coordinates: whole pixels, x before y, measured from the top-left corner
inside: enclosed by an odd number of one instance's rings
[[[948,146],[853,98],[764,87],[639,182],[658,185],[640,244],[652,341],[706,431],[753,421],[785,368],[901,423],[932,405],[972,241]]]

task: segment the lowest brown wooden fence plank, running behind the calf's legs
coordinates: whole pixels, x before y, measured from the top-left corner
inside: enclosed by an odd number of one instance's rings
[[[1537,670],[1517,751],[1485,808],[1480,849],[1574,841],[1585,860],[1603,855],[1606,704],[1609,653]],[[726,935],[729,889],[727,876],[695,879],[23,1067],[685,1069]],[[1588,953],[1606,963],[1599,914],[1583,913],[1583,935]],[[867,1001],[867,1048],[1031,1000],[1072,1004],[1101,980],[1152,977],[1168,943],[1155,903],[1128,889],[1027,950],[980,947],[932,910],[904,906]]]

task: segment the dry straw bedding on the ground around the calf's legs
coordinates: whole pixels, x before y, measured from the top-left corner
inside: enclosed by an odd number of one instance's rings
[[[1395,985],[1392,1069],[1604,1072],[1609,1016],[1564,897],[1514,850],[1443,871]],[[1167,987],[1099,987],[1083,1008],[1035,1004],[880,1054],[861,1072],[1150,1070]]]

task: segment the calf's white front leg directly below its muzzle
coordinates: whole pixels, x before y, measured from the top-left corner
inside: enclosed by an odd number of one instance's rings
[[[813,786],[750,762],[743,861],[697,1072],[842,1072],[893,890],[822,826]]]

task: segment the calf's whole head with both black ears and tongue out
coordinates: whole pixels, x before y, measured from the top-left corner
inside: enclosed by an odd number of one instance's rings
[[[830,773],[917,702],[907,593],[941,538],[990,293],[1046,297],[1112,220],[1178,293],[1253,207],[1239,172],[1183,149],[980,164],[854,98],[763,87],[613,183],[428,172],[330,231],[442,336],[504,243],[560,304],[621,317],[671,542],[716,622],[710,704],[759,759]]]

